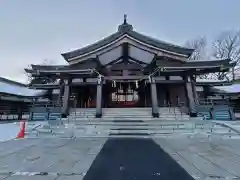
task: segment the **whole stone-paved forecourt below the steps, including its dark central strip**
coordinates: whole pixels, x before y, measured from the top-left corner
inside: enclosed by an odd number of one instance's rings
[[[0,142],[0,179],[237,179],[240,140],[60,138]],[[239,178],[240,179],[240,178]]]

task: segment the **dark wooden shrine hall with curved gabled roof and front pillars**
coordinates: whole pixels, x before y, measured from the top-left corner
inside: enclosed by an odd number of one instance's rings
[[[68,65],[31,65],[30,88],[58,89],[56,103],[69,108],[186,106],[194,115],[197,75],[228,71],[224,60],[189,60],[194,49],[143,35],[124,22],[117,32],[89,46],[63,53]],[[71,98],[70,98],[71,97]]]

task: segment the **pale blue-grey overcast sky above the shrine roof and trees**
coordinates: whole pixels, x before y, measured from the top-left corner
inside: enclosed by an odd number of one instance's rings
[[[240,0],[0,0],[0,76],[26,80],[23,68],[65,61],[117,30],[127,14],[136,31],[178,45],[240,28]]]

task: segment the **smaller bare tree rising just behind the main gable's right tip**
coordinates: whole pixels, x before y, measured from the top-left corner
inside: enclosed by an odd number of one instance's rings
[[[185,46],[194,49],[190,59],[199,60],[206,57],[206,45],[207,41],[205,37],[199,37],[190,41],[187,41]]]

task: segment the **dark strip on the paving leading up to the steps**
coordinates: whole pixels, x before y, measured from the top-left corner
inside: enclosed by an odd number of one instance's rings
[[[193,180],[151,139],[109,139],[84,180]]]

